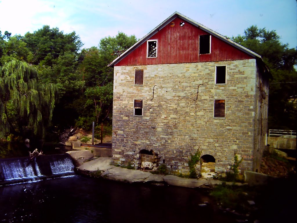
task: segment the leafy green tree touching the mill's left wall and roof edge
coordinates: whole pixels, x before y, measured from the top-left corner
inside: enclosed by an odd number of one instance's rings
[[[79,56],[78,72],[85,81],[84,95],[74,102],[80,116],[79,127],[108,123],[113,104],[113,69],[107,65],[131,47],[137,39],[119,32],[116,37],[100,40],[98,48],[83,49]],[[82,104],[83,103],[83,104]],[[78,106],[78,104],[80,106]]]

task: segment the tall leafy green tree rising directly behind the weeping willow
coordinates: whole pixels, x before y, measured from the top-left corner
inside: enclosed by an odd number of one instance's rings
[[[75,100],[83,95],[84,81],[78,67],[78,51],[82,43],[72,32],[64,34],[58,28],[43,26],[33,33],[26,33],[22,40],[32,52],[32,64],[39,65],[40,82],[55,84],[59,100],[53,111],[53,125],[59,129],[74,125],[79,116],[73,107]]]

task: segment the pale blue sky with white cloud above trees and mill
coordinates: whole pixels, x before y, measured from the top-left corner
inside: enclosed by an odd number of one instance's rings
[[[24,35],[49,25],[75,31],[90,48],[119,31],[140,39],[175,11],[224,36],[257,25],[297,46],[296,0],[0,0],[0,30]]]

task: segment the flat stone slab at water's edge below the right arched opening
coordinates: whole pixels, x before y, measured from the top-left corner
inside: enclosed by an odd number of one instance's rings
[[[169,185],[173,186],[181,186],[181,187],[199,187],[203,184],[208,184],[206,179],[189,179],[189,178],[181,178],[173,175],[165,175],[163,177],[164,181]]]

